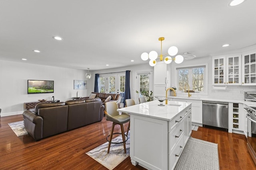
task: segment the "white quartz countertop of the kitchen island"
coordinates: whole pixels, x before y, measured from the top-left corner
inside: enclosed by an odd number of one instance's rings
[[[158,104],[160,104],[160,102],[158,100],[154,100],[151,102],[136,104],[134,106],[123,107],[117,109],[117,111],[171,121],[175,115],[186,109],[191,103],[168,101],[168,104],[166,105],[164,101],[164,106],[158,106]]]

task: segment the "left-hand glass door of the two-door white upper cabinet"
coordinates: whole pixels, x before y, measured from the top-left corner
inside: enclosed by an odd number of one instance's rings
[[[226,82],[226,57],[213,57],[213,84],[224,85]]]

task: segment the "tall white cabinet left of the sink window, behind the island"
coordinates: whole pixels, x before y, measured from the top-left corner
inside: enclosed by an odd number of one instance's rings
[[[165,96],[166,89],[170,88],[171,67],[160,62],[154,66],[154,96]],[[168,92],[170,96],[170,92]]]

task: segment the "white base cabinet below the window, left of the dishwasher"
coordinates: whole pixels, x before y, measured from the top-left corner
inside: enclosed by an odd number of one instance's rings
[[[199,123],[197,125],[201,125],[203,123],[203,104],[202,100],[188,100],[188,99],[174,99],[173,101],[178,101],[178,102],[190,102],[192,103],[192,122],[194,123]],[[190,117],[191,117],[190,116]]]

